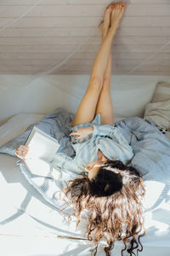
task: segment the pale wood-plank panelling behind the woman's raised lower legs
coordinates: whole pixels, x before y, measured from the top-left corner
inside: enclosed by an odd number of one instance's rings
[[[90,74],[108,0],[0,0],[0,73]],[[127,0],[112,74],[170,74],[170,0]]]

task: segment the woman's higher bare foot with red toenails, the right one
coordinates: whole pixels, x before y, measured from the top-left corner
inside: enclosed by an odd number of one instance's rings
[[[123,3],[117,3],[111,12],[111,29],[117,29],[120,21],[122,20],[122,15],[125,10],[125,5]]]

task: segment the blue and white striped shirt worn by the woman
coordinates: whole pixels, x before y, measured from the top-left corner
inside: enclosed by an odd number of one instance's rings
[[[55,154],[54,164],[61,170],[82,174],[88,163],[97,160],[99,149],[109,160],[121,160],[125,165],[133,158],[133,148],[127,143],[119,127],[100,125],[100,114],[98,114],[92,123],[74,126],[71,131],[87,126],[94,127],[93,134],[77,141],[72,139],[72,146],[76,152],[74,158],[64,153]]]

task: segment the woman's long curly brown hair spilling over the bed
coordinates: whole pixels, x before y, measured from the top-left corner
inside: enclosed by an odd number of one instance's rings
[[[77,225],[83,210],[89,212],[88,240],[94,241],[94,255],[98,243],[107,241],[105,255],[111,255],[116,241],[123,241],[124,251],[136,255],[143,247],[144,214],[141,199],[144,197],[143,179],[133,166],[125,166],[120,160],[108,160],[100,167],[97,176],[89,180],[87,175],[67,183],[66,197],[71,202]]]

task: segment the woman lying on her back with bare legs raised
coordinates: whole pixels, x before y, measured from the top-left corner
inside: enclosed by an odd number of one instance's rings
[[[88,240],[98,245],[105,238],[106,255],[110,255],[115,241],[123,241],[122,251],[132,255],[139,247],[139,237],[144,235],[141,203],[144,185],[139,172],[127,166],[133,158],[133,149],[114,125],[110,93],[111,44],[124,9],[123,4],[117,3],[105,10],[104,21],[99,25],[102,45],[94,60],[88,90],[72,123],[70,135],[76,156],[70,162],[65,158],[62,163],[68,164],[68,168],[72,165],[79,173],[84,170],[87,173],[68,183],[64,191],[73,205],[77,223],[82,210],[89,210]],[[100,125],[94,122],[96,116]],[[24,158],[28,150],[20,145],[16,155]]]

